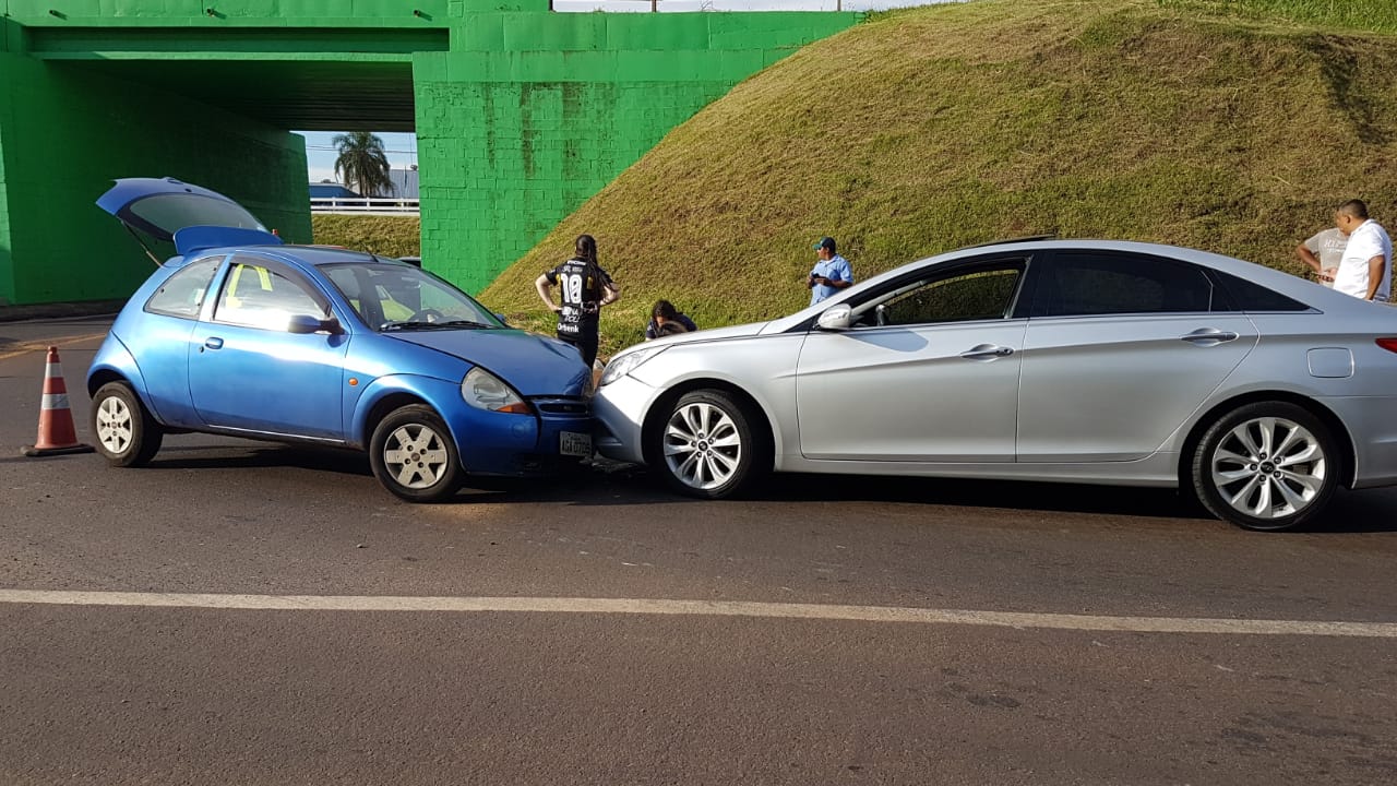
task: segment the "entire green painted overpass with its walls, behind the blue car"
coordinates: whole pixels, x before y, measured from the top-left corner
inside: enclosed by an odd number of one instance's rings
[[[310,242],[292,129],[415,131],[425,264],[476,291],[673,126],[856,20],[0,0],[0,308],[120,299],[145,278],[149,262],[94,206],[116,178],[200,183]]]

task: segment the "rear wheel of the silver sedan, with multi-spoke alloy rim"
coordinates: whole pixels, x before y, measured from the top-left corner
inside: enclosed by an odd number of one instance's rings
[[[1334,495],[1338,474],[1333,432],[1284,401],[1232,410],[1208,427],[1193,453],[1199,501],[1249,530],[1291,530],[1313,520]]]

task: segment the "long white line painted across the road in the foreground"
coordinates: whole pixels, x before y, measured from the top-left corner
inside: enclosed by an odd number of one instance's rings
[[[624,597],[395,597],[317,594],[198,594],[144,592],[0,590],[0,603],[59,606],[141,606],[177,608],[240,608],[292,611],[447,611],[535,614],[657,614],[705,617],[767,617],[916,622],[923,625],[988,625],[1060,631],[1137,634],[1231,634],[1261,636],[1397,638],[1397,622],[1323,620],[1221,620],[1193,617],[1104,617],[965,611],[895,606],[824,606],[813,603],[750,603],[740,600],[659,600]]]

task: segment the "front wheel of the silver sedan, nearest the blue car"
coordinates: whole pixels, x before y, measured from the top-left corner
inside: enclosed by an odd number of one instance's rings
[[[736,495],[771,466],[757,418],[731,393],[680,396],[650,436],[650,464],[675,491],[700,499]]]

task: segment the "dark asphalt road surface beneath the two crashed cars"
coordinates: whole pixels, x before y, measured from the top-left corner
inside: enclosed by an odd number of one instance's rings
[[[1255,534],[1171,492],[626,467],[412,506],[355,453],[20,457],[0,783],[1391,783],[1397,492]]]

